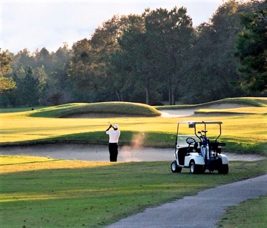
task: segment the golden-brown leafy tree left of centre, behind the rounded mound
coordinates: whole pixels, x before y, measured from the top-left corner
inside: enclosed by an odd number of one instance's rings
[[[90,40],[73,45],[69,77],[81,93],[86,93],[87,102],[109,100],[112,94],[119,93],[118,77],[111,73],[114,67],[110,66],[110,57],[118,50],[117,38],[127,25],[127,17],[114,16],[98,27]]]

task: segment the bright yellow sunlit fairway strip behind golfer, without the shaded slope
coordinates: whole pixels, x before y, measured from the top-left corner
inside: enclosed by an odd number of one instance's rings
[[[57,137],[64,136],[64,140],[71,140],[75,134],[87,134],[94,132],[103,132],[102,144],[106,141],[105,129],[108,121],[117,123],[121,130],[121,139],[123,140],[123,132],[145,132],[163,133],[170,136],[166,139],[166,145],[172,144],[172,135],[176,134],[177,121],[188,120],[183,118],[150,118],[150,117],[131,117],[131,118],[95,118],[95,119],[62,119],[62,118],[34,118],[21,116],[20,114],[1,114],[2,137],[0,142],[19,142],[27,140],[51,139],[56,140]],[[190,117],[192,118],[192,117]],[[266,117],[264,115],[248,115],[248,116],[220,116],[220,117],[194,117],[194,120],[220,120],[222,124],[221,139],[227,142],[242,145],[259,145],[267,141]],[[89,134],[89,135],[88,135]],[[82,135],[80,135],[82,136]],[[79,137],[75,138],[79,141]],[[169,140],[168,140],[169,139]],[[83,137],[83,142],[90,140]],[[101,137],[100,139],[101,140]],[[130,142],[126,138],[125,143]],[[90,142],[92,143],[92,142]],[[94,144],[97,144],[94,141]],[[153,142],[151,142],[153,143]],[[164,146],[164,145],[162,145]]]

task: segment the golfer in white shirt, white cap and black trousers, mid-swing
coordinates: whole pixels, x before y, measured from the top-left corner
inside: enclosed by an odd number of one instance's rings
[[[109,130],[111,127],[113,128],[113,130]],[[110,161],[117,161],[118,138],[120,135],[120,131],[118,131],[118,125],[115,124],[114,126],[112,126],[112,124],[110,124],[109,127],[106,129],[106,134],[109,135],[109,143],[108,143],[109,159]]]

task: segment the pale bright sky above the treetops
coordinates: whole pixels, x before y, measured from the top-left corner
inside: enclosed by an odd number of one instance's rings
[[[0,48],[17,54],[69,48],[114,15],[141,15],[145,9],[187,8],[193,26],[208,22],[223,0],[0,0]]]

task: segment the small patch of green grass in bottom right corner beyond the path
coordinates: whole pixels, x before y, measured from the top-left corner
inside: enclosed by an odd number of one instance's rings
[[[248,199],[227,208],[218,222],[219,227],[266,227],[267,195]]]

